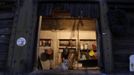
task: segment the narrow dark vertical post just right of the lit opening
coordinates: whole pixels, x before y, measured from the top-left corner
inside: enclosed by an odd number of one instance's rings
[[[108,8],[106,0],[100,0],[100,21],[102,31],[101,35],[102,35],[102,47],[103,47],[104,71],[110,73],[113,70],[113,57],[112,57],[111,32],[108,26],[107,12]]]

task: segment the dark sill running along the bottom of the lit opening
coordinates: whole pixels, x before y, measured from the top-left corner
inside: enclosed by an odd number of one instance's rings
[[[33,75],[102,75],[99,70],[42,70],[34,71]],[[32,74],[31,74],[32,75]]]

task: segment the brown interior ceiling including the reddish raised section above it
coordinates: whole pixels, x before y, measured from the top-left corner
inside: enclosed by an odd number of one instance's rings
[[[54,10],[51,16],[43,16],[42,30],[83,30],[95,31],[96,20],[71,17],[68,11]]]

